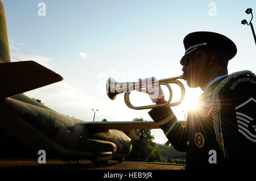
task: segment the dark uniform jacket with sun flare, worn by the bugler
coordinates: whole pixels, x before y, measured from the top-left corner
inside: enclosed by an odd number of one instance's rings
[[[214,133],[210,104],[214,88],[223,79],[200,96],[199,110],[188,112],[187,127],[177,122],[170,107],[148,112],[172,146],[187,152],[186,169],[250,169],[256,163],[256,79],[232,78],[219,92],[225,157]]]

